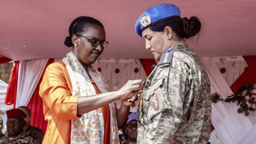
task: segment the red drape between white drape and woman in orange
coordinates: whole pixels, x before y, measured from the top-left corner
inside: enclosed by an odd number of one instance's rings
[[[54,62],[54,59],[48,60],[46,67],[44,68],[44,72],[45,72],[45,69],[47,68],[47,66],[53,62]],[[42,129],[45,133],[46,128],[47,128],[47,121],[44,120],[43,100],[39,96],[39,86],[42,82],[44,72],[43,72],[43,75],[41,76],[39,83],[37,84],[36,90],[35,90],[32,98],[30,99],[27,107],[31,110],[32,118],[31,118],[30,124],[32,126]]]

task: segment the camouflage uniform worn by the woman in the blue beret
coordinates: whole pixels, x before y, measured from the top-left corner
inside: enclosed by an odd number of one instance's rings
[[[196,53],[178,45],[148,76],[138,107],[138,144],[206,144],[211,134],[211,87]]]

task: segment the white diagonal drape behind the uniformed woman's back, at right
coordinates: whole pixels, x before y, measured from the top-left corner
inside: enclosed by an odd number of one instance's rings
[[[226,80],[221,75],[214,61],[202,58],[211,82],[212,93],[217,92],[225,99],[232,94]],[[238,144],[237,142],[252,128],[252,123],[244,114],[237,113],[236,103],[212,103],[212,125],[223,143]]]

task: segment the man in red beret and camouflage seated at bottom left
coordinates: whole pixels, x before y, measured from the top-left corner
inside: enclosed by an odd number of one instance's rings
[[[27,125],[24,120],[27,115],[20,109],[13,108],[6,111],[7,133],[0,138],[0,144],[39,144],[33,137],[27,136],[24,127]]]

